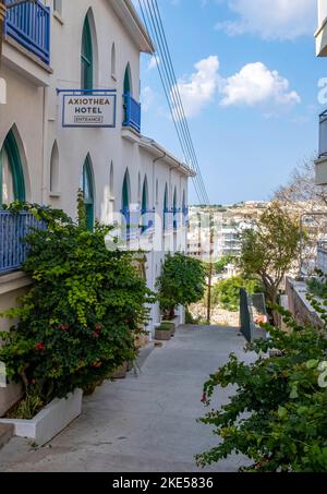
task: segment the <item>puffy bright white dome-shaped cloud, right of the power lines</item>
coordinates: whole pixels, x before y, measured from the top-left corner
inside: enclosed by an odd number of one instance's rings
[[[228,77],[221,88],[222,106],[291,107],[300,104],[295,91],[277,71],[270,71],[264,63],[249,63],[240,72]]]

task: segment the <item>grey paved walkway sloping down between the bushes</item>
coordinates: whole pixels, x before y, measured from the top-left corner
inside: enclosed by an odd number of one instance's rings
[[[185,326],[154,349],[137,377],[106,383],[85,399],[83,414],[50,444],[34,449],[13,438],[0,451],[0,471],[195,472],[194,455],[215,445],[202,388],[230,352],[244,358],[237,329]],[[246,359],[249,357],[245,356]],[[219,391],[221,403],[231,390]],[[206,471],[235,471],[232,457]]]

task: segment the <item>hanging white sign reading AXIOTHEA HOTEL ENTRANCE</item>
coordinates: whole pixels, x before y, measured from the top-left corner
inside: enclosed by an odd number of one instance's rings
[[[62,126],[116,126],[117,95],[112,92],[71,92],[62,96]]]

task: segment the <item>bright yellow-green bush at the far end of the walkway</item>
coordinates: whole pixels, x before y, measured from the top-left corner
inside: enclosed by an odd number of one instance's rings
[[[213,289],[213,304],[219,304],[221,309],[226,309],[227,311],[238,312],[240,309],[241,288],[244,288],[249,294],[263,292],[263,286],[258,280],[234,276],[215,285]]]

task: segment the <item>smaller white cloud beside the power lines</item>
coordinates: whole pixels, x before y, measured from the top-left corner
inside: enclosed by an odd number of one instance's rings
[[[186,117],[197,116],[203,108],[211,103],[218,88],[219,59],[210,56],[195,64],[196,72],[189,77],[183,77],[178,82],[178,89],[181,95]],[[175,95],[175,86],[171,91],[171,96]],[[178,107],[174,108],[178,115]]]

